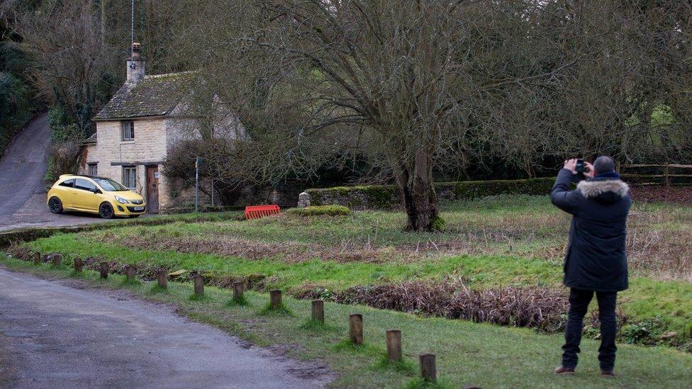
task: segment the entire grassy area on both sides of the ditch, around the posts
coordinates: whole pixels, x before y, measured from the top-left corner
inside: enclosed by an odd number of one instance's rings
[[[442,360],[442,381],[452,387],[460,383],[491,387],[613,384],[594,376],[596,342],[586,341],[583,374],[553,378],[550,371],[559,363],[562,336],[516,328],[526,324],[518,324],[515,317],[524,312],[513,309],[534,310],[533,314],[542,310],[545,317],[564,321],[562,256],[569,215],[555,209],[545,197],[500,196],[447,203],[442,206],[442,217],[447,221],[445,231],[415,234],[402,230],[405,217],[397,212],[333,217],[286,213],[259,220],[235,220],[228,214],[208,219],[184,216],[162,225],[56,234],[11,252],[60,252],[68,266],[77,256],[91,258],[91,266],[100,260],[111,261],[115,269],[136,264],[144,278],[164,268],[184,269],[182,280],[202,273],[216,286],[248,281],[255,290],[250,293],[252,308],[225,307],[228,291],[223,288],[212,289],[209,300],[194,303],[186,298],[189,284],[173,283],[167,295],[151,295],[150,286],[128,287],[147,298],[174,301],[196,320],[253,342],[298,344],[298,356],[325,359],[340,373],[338,386],[413,383],[415,369],[402,373],[376,366],[384,352],[384,330],[392,327],[406,334],[409,364],[415,365],[418,353],[435,351]],[[619,295],[620,343],[665,346],[623,345],[618,354],[618,371],[623,377],[615,383],[625,387],[688,383],[692,354],[675,348],[690,351],[692,347],[687,335],[692,327],[692,207],[635,204],[627,246],[630,289]],[[32,269],[16,261],[5,262]],[[464,316],[457,315],[458,307],[456,311],[439,310],[440,305],[447,309],[446,305],[466,303],[468,307],[470,301],[482,305],[481,315],[471,319],[493,322],[488,313],[501,311],[499,316],[506,320],[494,322],[509,327],[331,303],[330,329],[299,331],[308,312],[305,300],[288,300],[292,316],[259,315],[267,300],[262,293],[271,288],[303,297],[446,317]],[[371,300],[373,295],[376,299]],[[455,296],[475,300],[454,300]],[[420,303],[426,298],[434,301]],[[418,305],[405,304],[410,301],[418,301]],[[355,311],[367,312],[366,336],[371,339],[369,346],[357,350],[339,343],[345,318]],[[590,320],[586,320],[586,332],[586,339],[598,333]],[[359,372],[359,366],[367,366],[365,373]],[[498,376],[498,371],[503,374]]]

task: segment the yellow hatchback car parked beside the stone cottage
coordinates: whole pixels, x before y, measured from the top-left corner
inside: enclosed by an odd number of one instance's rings
[[[137,218],[145,213],[147,205],[142,196],[112,179],[63,174],[48,191],[48,208],[52,213],[78,210],[111,219]]]

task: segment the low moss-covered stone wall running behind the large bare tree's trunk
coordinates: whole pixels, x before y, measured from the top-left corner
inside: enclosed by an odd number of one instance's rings
[[[452,181],[433,184],[440,200],[460,200],[498,194],[547,195],[554,177],[522,180]],[[352,209],[391,209],[400,205],[395,185],[337,186],[306,191],[310,205],[344,205]]]

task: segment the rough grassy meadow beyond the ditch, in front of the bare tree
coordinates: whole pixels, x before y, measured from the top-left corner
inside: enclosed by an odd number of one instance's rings
[[[65,258],[92,256],[142,269],[198,269],[252,278],[260,291],[462,281],[474,289],[561,288],[569,215],[546,197],[497,196],[442,205],[445,230],[402,230],[405,215],[368,211],[259,220],[185,217],[167,225],[125,225],[63,233],[26,244]],[[692,327],[692,207],[635,204],[630,215],[630,289],[618,308],[630,322],[656,318],[658,332]]]

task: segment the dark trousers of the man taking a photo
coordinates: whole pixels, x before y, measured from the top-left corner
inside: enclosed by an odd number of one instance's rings
[[[615,300],[618,292],[596,292],[598,300],[598,318],[601,320],[601,347],[598,348],[598,361],[601,362],[601,370],[610,371],[615,366],[615,334],[617,322],[615,320]],[[581,328],[584,327],[584,315],[588,303],[591,303],[593,291],[570,289],[569,314],[567,315],[567,327],[564,331],[564,346],[562,346],[562,366],[566,368],[576,367],[579,360],[579,343],[581,343]]]

